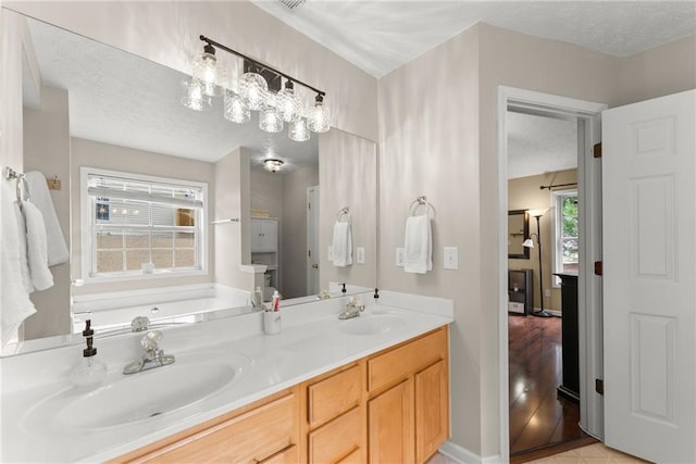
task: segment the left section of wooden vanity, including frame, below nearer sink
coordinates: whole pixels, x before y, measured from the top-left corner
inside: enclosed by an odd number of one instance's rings
[[[298,463],[297,387],[114,462]]]

